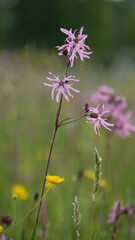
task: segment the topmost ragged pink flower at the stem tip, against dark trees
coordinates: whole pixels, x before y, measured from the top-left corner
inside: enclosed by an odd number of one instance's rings
[[[76,32],[77,30],[75,30],[74,33],[72,33],[72,29],[68,31],[61,28],[60,30],[68,35],[68,37],[65,40],[67,42],[66,44],[57,46],[60,51],[59,55],[69,55],[71,67],[73,67],[74,59],[77,58],[77,53],[79,54],[81,61],[83,61],[84,58],[90,58],[88,55],[92,52],[87,52],[87,49],[90,50],[90,47],[84,44],[87,35],[82,34],[83,27],[81,27],[79,32]]]

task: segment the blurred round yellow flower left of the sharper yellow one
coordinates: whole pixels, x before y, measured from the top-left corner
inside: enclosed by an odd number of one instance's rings
[[[12,193],[22,200],[25,200],[28,197],[28,192],[23,185],[13,185]]]

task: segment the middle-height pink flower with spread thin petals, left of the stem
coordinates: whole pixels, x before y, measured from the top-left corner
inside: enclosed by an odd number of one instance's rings
[[[52,100],[54,99],[54,92],[57,92],[56,95],[56,102],[59,102],[60,94],[63,94],[64,98],[69,102],[68,96],[73,98],[73,95],[70,93],[70,90],[79,93],[79,90],[74,89],[71,87],[73,84],[68,84],[70,81],[78,82],[80,80],[75,79],[75,76],[67,76],[64,77],[63,80],[59,80],[59,76],[55,76],[53,73],[49,72],[50,75],[53,76],[53,78],[47,77],[49,81],[52,81],[53,84],[48,84],[44,82],[44,85],[52,87]],[[68,95],[68,96],[67,96]]]

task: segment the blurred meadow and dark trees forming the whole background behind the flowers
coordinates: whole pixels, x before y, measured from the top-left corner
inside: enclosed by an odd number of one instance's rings
[[[57,54],[65,36],[59,28],[80,28],[88,34],[86,43],[93,54],[83,63],[75,61],[69,72],[80,79],[74,95],[63,101],[61,119],[76,118],[91,94],[102,84],[127,99],[135,124],[135,4],[134,1],[3,1],[0,0],[0,215],[14,218],[11,188],[22,184],[29,197],[17,200],[17,221],[36,203],[53,134],[58,104],[43,82],[51,71],[65,72],[64,59]],[[111,158],[106,158],[106,132],[96,136],[85,120],[59,129],[49,173],[65,179],[47,197],[46,239],[76,239],[72,202],[80,204],[80,240],[90,240],[93,181],[79,174],[94,169],[94,146],[103,159],[103,178],[110,189],[100,188],[93,219],[93,238],[110,239],[106,224],[114,201],[135,202],[135,139],[114,135]],[[15,229],[14,240],[31,238],[36,211]],[[12,225],[6,230],[10,239]],[[41,238],[41,222],[37,239]],[[120,220],[118,240],[135,239],[135,221]]]

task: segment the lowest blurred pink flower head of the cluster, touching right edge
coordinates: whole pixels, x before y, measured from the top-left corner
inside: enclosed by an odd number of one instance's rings
[[[130,123],[132,112],[128,111],[125,115],[119,113],[115,116],[115,131],[122,138],[130,137],[130,132],[135,132],[135,125]]]

